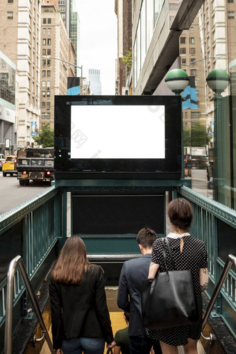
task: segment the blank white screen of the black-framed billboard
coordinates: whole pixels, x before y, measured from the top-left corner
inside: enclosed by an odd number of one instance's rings
[[[164,159],[165,106],[71,106],[72,159]]]

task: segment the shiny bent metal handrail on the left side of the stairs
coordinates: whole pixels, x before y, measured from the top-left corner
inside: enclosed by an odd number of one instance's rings
[[[36,299],[35,294],[33,292],[31,282],[28,278],[28,274],[26,272],[22,257],[20,255],[17,255],[17,257],[15,257],[10,262],[10,265],[8,268],[8,284],[7,284],[7,290],[6,290],[6,323],[5,323],[5,333],[4,333],[4,353],[5,354],[12,354],[13,287],[14,287],[15,269],[16,269],[17,265],[18,265],[19,270],[22,274],[22,278],[23,278],[24,283],[26,285],[28,295],[31,298],[31,303],[35,309],[35,314],[37,315],[37,319],[38,319],[40,326],[42,328],[42,332],[44,333],[43,337],[45,337],[51,353],[54,353],[53,345],[52,345],[51,339],[49,337],[49,332],[47,331],[44,320],[42,319],[40,307],[37,303],[37,299]]]

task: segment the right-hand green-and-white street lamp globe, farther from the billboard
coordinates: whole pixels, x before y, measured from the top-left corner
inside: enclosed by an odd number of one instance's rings
[[[224,92],[228,87],[228,83],[230,81],[230,77],[228,73],[223,69],[214,69],[210,71],[208,77],[206,78],[208,86],[216,96],[219,96],[221,92]]]

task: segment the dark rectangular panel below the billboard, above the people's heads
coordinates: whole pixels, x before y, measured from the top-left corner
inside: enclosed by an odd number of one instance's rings
[[[73,235],[135,234],[144,226],[165,233],[165,193],[72,195]]]

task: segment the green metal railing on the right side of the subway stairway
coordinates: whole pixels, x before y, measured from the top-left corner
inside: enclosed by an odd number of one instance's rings
[[[233,253],[235,249],[236,211],[187,187],[180,187],[178,196],[183,196],[192,204],[194,222],[191,234],[202,239],[208,249],[210,282],[206,294],[210,298],[228,255]],[[236,256],[236,254],[234,255]],[[236,274],[234,268],[230,269],[224,281],[212,315],[221,317],[236,339],[235,292]]]

